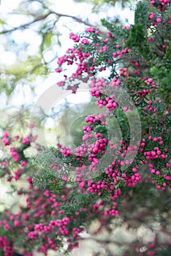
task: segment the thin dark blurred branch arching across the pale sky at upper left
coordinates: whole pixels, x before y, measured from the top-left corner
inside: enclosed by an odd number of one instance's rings
[[[9,30],[1,31],[0,34],[7,34],[7,33],[11,33],[12,31],[15,31],[15,30],[18,30],[18,29],[25,29],[26,27],[30,26],[33,23],[36,23],[39,20],[45,20],[45,18],[47,18],[51,14],[57,15],[58,18],[61,18],[61,17],[72,18],[73,20],[77,21],[78,23],[83,23],[86,26],[92,26],[91,23],[88,23],[87,21],[84,21],[81,18],[77,18],[77,17],[72,16],[72,15],[66,15],[66,14],[61,14],[61,13],[58,13],[58,12],[50,11],[46,15],[39,16],[39,17],[35,18],[34,20],[32,20],[28,23],[25,23],[21,26],[18,26],[18,27],[15,27],[13,29],[9,29]]]

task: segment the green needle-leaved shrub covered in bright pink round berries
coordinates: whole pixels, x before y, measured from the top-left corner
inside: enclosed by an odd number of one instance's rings
[[[148,241],[118,242],[121,255],[169,255],[163,236],[170,236],[170,2],[151,4],[153,12],[146,1],[137,4],[131,27],[102,20],[105,37],[94,27],[70,34],[75,45],[58,58],[56,72],[65,64],[75,72],[58,86],[77,94],[75,81],[87,80],[105,110],[86,116],[86,125],[80,120],[80,146],[40,148],[33,164],[24,154],[36,139],[32,132],[3,135],[11,157],[2,160],[1,176],[12,181],[31,173],[29,187],[18,190],[27,195],[26,206],[0,217],[4,255],[14,249],[32,255],[33,248],[47,255],[65,242],[64,253],[70,252],[96,219],[96,233],[117,225],[151,230]],[[102,78],[105,70],[110,75]]]

